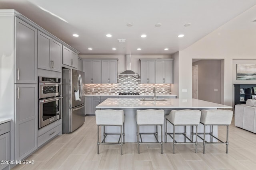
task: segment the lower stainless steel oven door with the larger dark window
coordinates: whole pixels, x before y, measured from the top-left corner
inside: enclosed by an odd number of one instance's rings
[[[61,118],[62,97],[39,100],[39,129]]]

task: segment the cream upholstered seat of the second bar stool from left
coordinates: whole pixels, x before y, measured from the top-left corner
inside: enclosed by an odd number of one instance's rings
[[[137,110],[136,119],[138,125],[163,125],[164,110]]]

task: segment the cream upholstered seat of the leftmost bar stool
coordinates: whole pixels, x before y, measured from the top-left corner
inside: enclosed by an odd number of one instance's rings
[[[122,125],[124,123],[123,110],[96,110],[95,117],[97,125]]]

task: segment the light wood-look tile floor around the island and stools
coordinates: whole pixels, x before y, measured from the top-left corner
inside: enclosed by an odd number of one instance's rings
[[[226,128],[219,128],[219,137],[226,139]],[[38,149],[26,160],[35,160],[34,165],[18,165],[13,170],[255,170],[256,134],[232,125],[229,128],[229,154],[226,145],[202,143],[198,153],[194,145],[176,145],[172,154],[172,143],[164,143],[164,154],[159,147],[125,143],[123,155],[120,146],[100,145],[97,154],[97,125],[95,117],[86,117],[86,122],[74,133],[54,138]]]

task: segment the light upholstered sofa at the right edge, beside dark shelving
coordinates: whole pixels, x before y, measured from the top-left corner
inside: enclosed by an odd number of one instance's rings
[[[235,126],[256,133],[256,100],[235,106]]]

